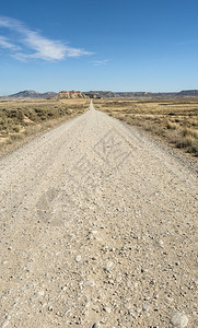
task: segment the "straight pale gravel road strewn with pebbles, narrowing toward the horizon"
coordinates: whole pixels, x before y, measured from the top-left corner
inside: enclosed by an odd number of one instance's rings
[[[92,104],[1,159],[1,327],[198,327],[196,191]]]

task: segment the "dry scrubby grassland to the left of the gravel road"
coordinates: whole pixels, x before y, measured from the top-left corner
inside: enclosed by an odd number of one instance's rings
[[[0,101],[0,155],[88,108],[89,99]]]

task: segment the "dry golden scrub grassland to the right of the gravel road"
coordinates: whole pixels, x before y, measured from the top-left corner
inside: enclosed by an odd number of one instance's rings
[[[198,99],[94,99],[96,109],[198,156]]]

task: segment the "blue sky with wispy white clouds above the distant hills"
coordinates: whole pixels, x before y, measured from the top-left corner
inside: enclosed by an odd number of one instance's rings
[[[0,95],[198,89],[197,0],[7,0]]]

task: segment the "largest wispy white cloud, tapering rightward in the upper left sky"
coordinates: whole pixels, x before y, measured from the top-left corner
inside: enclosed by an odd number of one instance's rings
[[[16,42],[0,36],[0,47],[9,49],[12,57],[22,61],[30,59],[53,61],[62,60],[67,57],[77,58],[92,55],[92,52],[84,49],[69,47],[61,40],[51,40],[44,37],[40,33],[27,28],[18,20],[0,16],[0,28],[9,28],[14,35],[16,34]]]

